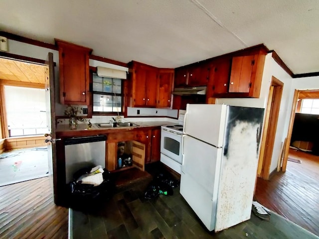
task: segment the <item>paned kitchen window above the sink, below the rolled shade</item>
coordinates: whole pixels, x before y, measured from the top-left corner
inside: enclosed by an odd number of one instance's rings
[[[93,73],[93,114],[122,113],[122,80]]]

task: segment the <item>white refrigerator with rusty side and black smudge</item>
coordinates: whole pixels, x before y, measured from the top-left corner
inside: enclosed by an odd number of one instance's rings
[[[186,106],[180,194],[209,231],[250,219],[264,109]]]

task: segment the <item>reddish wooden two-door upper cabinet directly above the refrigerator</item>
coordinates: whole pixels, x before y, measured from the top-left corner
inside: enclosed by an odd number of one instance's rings
[[[243,50],[209,63],[206,102],[209,98],[259,98],[265,47]]]

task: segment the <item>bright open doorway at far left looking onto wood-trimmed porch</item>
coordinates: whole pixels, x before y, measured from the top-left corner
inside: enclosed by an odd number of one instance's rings
[[[49,176],[47,66],[0,58],[0,186]]]

